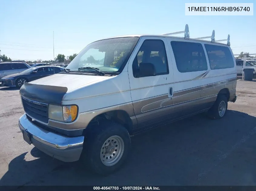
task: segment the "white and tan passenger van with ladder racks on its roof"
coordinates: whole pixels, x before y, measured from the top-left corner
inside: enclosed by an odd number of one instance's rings
[[[28,144],[99,174],[124,162],[130,135],[202,112],[223,118],[237,98],[230,46],[186,30],[98,40],[66,69],[22,86],[19,127]]]

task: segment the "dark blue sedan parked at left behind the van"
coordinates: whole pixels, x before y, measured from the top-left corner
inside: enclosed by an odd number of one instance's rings
[[[65,68],[59,66],[36,66],[24,70],[23,72],[5,76],[2,78],[2,86],[20,88],[25,82],[44,78],[59,72],[63,72]]]

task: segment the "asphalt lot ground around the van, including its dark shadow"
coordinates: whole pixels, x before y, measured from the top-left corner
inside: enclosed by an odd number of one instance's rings
[[[256,185],[256,81],[237,82],[223,119],[199,114],[131,138],[127,161],[106,177],[28,145],[19,90],[0,88],[0,185]]]

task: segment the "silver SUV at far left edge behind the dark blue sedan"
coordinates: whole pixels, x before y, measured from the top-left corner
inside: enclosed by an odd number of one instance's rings
[[[26,62],[0,62],[0,80],[11,74],[22,72],[31,68]]]

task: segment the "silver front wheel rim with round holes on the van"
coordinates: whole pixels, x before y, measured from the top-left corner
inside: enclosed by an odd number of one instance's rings
[[[124,150],[125,143],[120,136],[109,137],[101,147],[101,162],[105,166],[115,165],[122,158]]]

